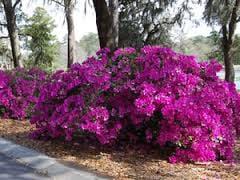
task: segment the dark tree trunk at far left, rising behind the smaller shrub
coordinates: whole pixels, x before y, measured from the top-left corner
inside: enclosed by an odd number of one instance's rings
[[[8,37],[10,38],[13,64],[14,67],[21,67],[22,66],[21,52],[18,28],[16,23],[17,21],[16,10],[18,6],[21,5],[21,0],[16,0],[15,2],[13,2],[12,0],[1,0],[0,3],[1,5],[3,5],[5,13],[6,27],[8,31]]]

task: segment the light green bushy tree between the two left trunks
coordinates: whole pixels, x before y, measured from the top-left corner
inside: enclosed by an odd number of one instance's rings
[[[44,8],[37,7],[23,30],[27,36],[26,46],[31,51],[29,66],[52,67],[58,53],[56,37],[52,34],[54,28],[52,17]]]

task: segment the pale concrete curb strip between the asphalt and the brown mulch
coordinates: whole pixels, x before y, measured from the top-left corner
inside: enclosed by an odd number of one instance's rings
[[[54,180],[103,180],[94,173],[68,167],[33,149],[0,137],[0,153]]]

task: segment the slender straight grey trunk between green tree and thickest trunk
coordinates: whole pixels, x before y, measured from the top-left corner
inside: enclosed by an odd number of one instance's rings
[[[68,68],[74,63],[75,59],[75,29],[73,20],[74,2],[73,0],[64,0],[65,16],[68,29]]]

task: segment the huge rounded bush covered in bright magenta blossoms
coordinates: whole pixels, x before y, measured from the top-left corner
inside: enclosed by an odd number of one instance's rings
[[[42,86],[32,136],[72,140],[86,132],[101,144],[171,146],[172,163],[231,160],[240,98],[234,84],[217,77],[220,69],[156,46],[100,50]]]

